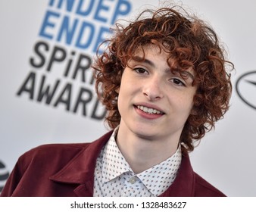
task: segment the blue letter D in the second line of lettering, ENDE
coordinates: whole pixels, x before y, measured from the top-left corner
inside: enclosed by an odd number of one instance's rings
[[[80,33],[76,40],[76,47],[78,48],[88,48],[92,42],[93,35],[95,33],[94,26],[92,23],[83,22],[80,28]],[[87,41],[83,42],[83,38],[87,37]]]

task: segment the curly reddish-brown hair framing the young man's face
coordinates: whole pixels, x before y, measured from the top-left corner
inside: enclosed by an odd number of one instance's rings
[[[150,16],[144,17],[147,14]],[[108,110],[108,125],[114,129],[120,123],[118,89],[127,62],[138,48],[153,43],[168,52],[171,70],[178,70],[181,75],[183,70],[195,70],[194,106],[180,136],[186,150],[192,151],[194,141],[210,131],[229,108],[232,85],[227,67],[232,70],[233,64],[226,61],[226,51],[217,34],[202,20],[176,8],[143,11],[127,27],[117,24],[115,32],[108,40],[108,50],[98,55],[93,65],[95,88]]]

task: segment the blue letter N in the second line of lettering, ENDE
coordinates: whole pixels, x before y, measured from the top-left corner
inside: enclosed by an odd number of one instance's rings
[[[72,26],[70,26],[69,20],[70,20],[69,17],[64,16],[64,20],[62,21],[62,24],[61,24],[61,29],[60,29],[60,31],[58,33],[58,38],[57,38],[58,42],[61,41],[61,38],[63,38],[64,35],[66,35],[65,42],[67,44],[70,44],[72,42],[73,34],[75,33],[78,20],[75,19],[73,21]]]

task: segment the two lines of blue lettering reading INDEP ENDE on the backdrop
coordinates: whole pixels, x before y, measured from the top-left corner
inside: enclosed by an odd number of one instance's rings
[[[132,10],[129,0],[48,0],[48,6],[55,11],[46,11],[39,30],[39,36],[55,39],[73,45],[76,48],[90,48],[93,52],[102,53],[105,39],[111,34],[109,25],[114,24],[121,16]],[[64,13],[58,11],[64,10]],[[70,16],[69,12],[82,17]],[[101,25],[95,24],[101,22]],[[102,45],[101,45],[102,44]]]

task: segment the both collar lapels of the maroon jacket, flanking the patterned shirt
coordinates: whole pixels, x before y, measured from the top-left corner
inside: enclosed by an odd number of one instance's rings
[[[77,196],[92,196],[95,164],[103,146],[110,139],[113,131],[106,133],[95,142],[86,144],[73,160],[58,173],[50,177],[55,182],[78,184],[74,192]],[[180,169],[173,184],[160,196],[193,196],[195,192],[195,174],[189,160],[189,154],[183,153]]]

